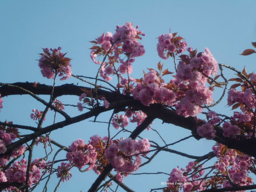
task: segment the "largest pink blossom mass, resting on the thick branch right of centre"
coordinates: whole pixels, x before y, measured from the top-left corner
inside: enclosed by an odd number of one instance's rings
[[[184,117],[195,117],[203,110],[200,106],[212,104],[212,91],[205,86],[206,76],[217,73],[218,63],[207,48],[206,52],[197,55],[196,50],[188,50],[190,56],[180,56],[175,79],[168,84],[164,83],[161,77],[171,72],[162,72],[162,65],[158,64],[160,72],[149,69],[143,79],[136,80],[134,98],[146,106],[152,103],[174,105],[176,112]]]

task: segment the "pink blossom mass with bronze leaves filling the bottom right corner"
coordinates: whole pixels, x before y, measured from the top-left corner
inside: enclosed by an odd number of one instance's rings
[[[182,189],[184,192],[195,192],[205,190],[206,186],[209,187],[210,185],[215,188],[225,188],[253,183],[252,178],[248,177],[252,163],[255,161],[252,157],[235,149],[229,149],[223,144],[214,145],[212,150],[218,158],[212,168],[208,167],[211,168],[210,172],[214,173],[212,177],[205,179],[203,176],[207,168],[198,162],[191,161],[186,168],[172,169],[165,192],[171,190],[179,192]],[[230,180],[227,179],[227,175],[229,175]],[[175,185],[175,182],[185,182],[186,184]]]

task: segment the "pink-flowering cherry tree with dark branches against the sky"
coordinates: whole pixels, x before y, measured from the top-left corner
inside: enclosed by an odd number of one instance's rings
[[[256,189],[252,179],[256,173],[256,73],[246,72],[245,68],[240,72],[220,64],[208,48],[200,52],[188,47],[182,36],[170,31],[158,36],[156,49],[162,60],[173,60],[174,71],[158,62],[155,69],[146,69],[140,79],[134,79],[135,60],[145,54],[140,43],[145,34],[138,28],[132,23],[117,25],[114,34],[106,32],[91,41],[90,57],[98,65],[94,77],[72,74],[75,63],[61,47],[43,48],[38,66],[43,77],[52,79],[52,85],[0,83],[0,108],[5,108],[5,97],[12,95],[29,95],[45,106],[44,110],[34,108],[30,114],[37,126],[15,124],[11,117],[0,121],[1,191],[31,192],[40,184],[46,192],[52,177],[59,178],[59,182],[50,191],[57,191],[61,182],[72,179],[72,170],[79,169],[84,174],[87,171],[98,174],[88,192],[118,191],[119,188],[134,192],[136,189],[125,185],[124,177],[136,174],[161,151],[188,158],[187,166],[166,170],[168,173],[140,173],[166,174],[164,186],[151,191]],[[256,43],[252,46],[256,48]],[[254,49],[246,49],[241,55],[253,53],[256,53]],[[227,72],[233,72],[234,77],[227,79]],[[56,81],[68,78],[89,85],[55,85]],[[221,94],[215,101],[216,89],[221,90]],[[43,99],[43,95],[49,96],[48,100]],[[212,110],[225,95],[229,109],[233,110],[232,116]],[[63,103],[60,96],[77,96],[77,100]],[[71,116],[66,107],[76,108],[80,114]],[[49,111],[54,112],[53,123],[47,122]],[[92,117],[95,123],[100,122],[98,115],[108,111],[111,112],[105,121],[108,135],[91,135],[89,141],[77,139],[69,146],[51,139],[51,132],[68,125]],[[57,115],[63,120],[58,121]],[[156,119],[189,130],[191,134],[168,143],[154,129]],[[128,124],[134,127],[132,131],[127,129]],[[118,132],[113,134],[115,129]],[[165,144],[142,138],[140,134],[146,130],[155,132]],[[129,137],[123,137],[124,132],[129,132]],[[191,137],[213,140],[216,144],[203,156],[168,148]],[[43,145],[45,152],[32,158],[38,145]],[[55,152],[53,145],[59,150]],[[66,158],[58,159],[59,153],[65,153]],[[210,166],[205,166],[213,159]]]

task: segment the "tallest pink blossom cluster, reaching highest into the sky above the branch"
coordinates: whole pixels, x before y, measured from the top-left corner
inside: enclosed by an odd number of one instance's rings
[[[95,45],[100,45],[91,48],[90,57],[94,63],[101,64],[99,73],[104,80],[112,80],[112,77],[110,77],[111,74],[117,74],[120,78],[122,78],[121,74],[127,72],[131,74],[134,58],[145,54],[144,46],[138,41],[138,39],[141,39],[141,36],[145,36],[145,34],[137,28],[138,25],[134,28],[132,23],[127,22],[121,26],[117,25],[114,35],[110,32],[106,32],[99,36],[96,41],[91,41]],[[122,46],[122,48],[119,48],[120,46]],[[110,55],[114,53],[114,56],[107,55],[108,62],[96,60],[98,56],[108,53],[110,53]],[[127,57],[127,60],[120,58],[122,54]],[[115,63],[120,63],[120,65],[115,66]],[[124,81],[122,81],[122,83],[125,83]]]

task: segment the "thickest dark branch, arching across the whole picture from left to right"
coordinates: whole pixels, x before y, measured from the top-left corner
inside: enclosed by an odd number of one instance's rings
[[[38,84],[37,87],[34,86],[32,83],[15,83],[13,85],[21,86],[25,88],[26,90],[31,91],[34,94],[39,94],[39,95],[50,95],[52,86],[45,85],[45,84]],[[54,96],[62,96],[62,95],[75,95],[75,96],[80,96],[83,91],[81,88],[85,88],[87,90],[91,90],[91,88],[88,87],[82,87],[82,86],[77,86],[74,84],[63,84],[61,86],[56,86],[55,87],[55,93]],[[8,86],[1,86],[0,87],[0,93],[1,96],[10,96],[10,95],[23,95],[27,94],[23,92],[20,89],[17,89],[15,87],[8,87]],[[163,122],[166,123],[171,123],[173,125],[182,127],[184,129],[188,129],[192,131],[194,135],[196,135],[196,121],[193,117],[188,117],[185,118],[183,116],[179,116],[175,113],[175,111],[170,110],[169,108],[166,108],[165,106],[162,106],[160,104],[152,104],[149,107],[142,105],[138,100],[134,100],[133,97],[131,96],[124,96],[120,95],[118,93],[113,93],[109,91],[104,91],[101,89],[98,89],[98,95],[103,95],[106,97],[106,99],[112,103],[115,101],[121,101],[122,102],[127,102],[126,105],[120,106],[120,108],[123,108],[125,106],[128,107],[133,107],[135,109],[140,109],[143,112],[145,112],[147,115],[155,116],[156,118],[163,120]],[[102,111],[94,112],[94,114],[99,114]],[[88,112],[90,113],[90,112]],[[92,115],[93,116],[93,115]],[[86,119],[86,118],[85,118]],[[63,121],[62,121],[63,122]],[[71,123],[62,123],[62,127],[72,124]],[[60,127],[59,127],[60,128]],[[58,129],[58,128],[55,128]],[[245,139],[245,138],[240,138],[239,140],[237,139],[232,139],[232,138],[226,138],[223,136],[223,131],[221,127],[215,127],[216,129],[216,137],[214,140],[220,144],[225,144],[229,148],[232,149],[237,149],[245,154],[248,154],[250,156],[256,157],[256,139]],[[196,139],[200,139],[201,137],[195,136]],[[31,139],[29,139],[31,140]],[[28,140],[28,141],[29,141]]]

